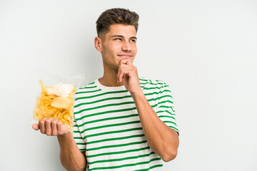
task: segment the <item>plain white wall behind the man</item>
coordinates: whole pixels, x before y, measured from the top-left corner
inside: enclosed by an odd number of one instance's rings
[[[64,170],[56,137],[32,130],[39,80],[103,74],[96,19],[140,15],[139,76],[169,83],[180,130],[164,170],[257,170],[257,1],[0,0],[0,170]]]

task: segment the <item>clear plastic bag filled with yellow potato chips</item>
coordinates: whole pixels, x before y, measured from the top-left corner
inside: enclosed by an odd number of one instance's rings
[[[70,84],[43,86],[42,81],[39,81],[39,83],[42,90],[36,100],[34,119],[56,118],[61,120],[62,124],[72,131],[74,116],[73,97],[76,93],[76,86]]]

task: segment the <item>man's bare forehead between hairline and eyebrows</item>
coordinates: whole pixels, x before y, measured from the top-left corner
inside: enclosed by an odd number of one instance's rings
[[[121,35],[124,37],[133,37],[136,36],[136,28],[132,25],[124,24],[112,24],[110,26],[110,31],[106,33],[106,37]]]

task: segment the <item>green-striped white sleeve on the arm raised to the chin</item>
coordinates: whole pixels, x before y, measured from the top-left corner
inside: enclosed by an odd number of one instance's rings
[[[178,126],[176,124],[173,96],[171,95],[171,90],[167,83],[163,83],[163,86],[161,86],[160,92],[158,93],[156,114],[163,123],[168,125],[169,128],[176,130],[179,135]]]

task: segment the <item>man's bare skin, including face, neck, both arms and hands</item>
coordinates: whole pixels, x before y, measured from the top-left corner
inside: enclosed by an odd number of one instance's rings
[[[101,53],[104,75],[99,82],[104,86],[125,86],[132,95],[141,120],[143,132],[151,149],[163,161],[173,160],[177,155],[178,134],[163,123],[146,100],[138,79],[138,71],[133,66],[136,56],[136,29],[124,24],[113,24],[110,31],[100,34],[94,40],[96,50]],[[60,120],[43,118],[32,125],[42,134],[57,136],[60,145],[60,158],[66,170],[85,170],[85,152],[80,152],[72,133]]]

